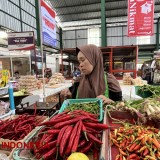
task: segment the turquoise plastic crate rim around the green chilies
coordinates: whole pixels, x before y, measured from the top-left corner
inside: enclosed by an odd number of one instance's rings
[[[59,113],[63,112],[70,104],[75,103],[90,103],[90,102],[97,102],[99,105],[99,122],[103,120],[103,103],[102,99],[100,98],[85,98],[85,99],[67,99],[63,102]]]

